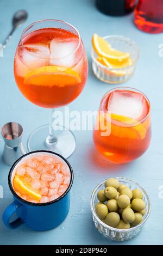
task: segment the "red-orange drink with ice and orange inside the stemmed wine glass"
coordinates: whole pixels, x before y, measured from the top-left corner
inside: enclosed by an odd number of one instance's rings
[[[14,75],[21,93],[34,104],[65,106],[82,92],[87,58],[78,35],[61,28],[41,28],[17,47]]]

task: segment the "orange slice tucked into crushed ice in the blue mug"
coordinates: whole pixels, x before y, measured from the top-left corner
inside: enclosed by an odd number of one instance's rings
[[[23,178],[21,176],[17,174],[15,175],[13,185],[16,191],[20,192],[21,194],[27,194],[30,198],[39,202],[41,194],[33,191],[30,187],[30,184],[27,184],[27,182],[23,182]]]

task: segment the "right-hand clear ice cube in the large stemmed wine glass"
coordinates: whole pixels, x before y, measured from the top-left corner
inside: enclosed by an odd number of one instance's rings
[[[67,67],[75,65],[76,54],[73,53],[73,51],[76,50],[78,43],[78,39],[70,39],[67,41],[53,39],[50,45],[49,63],[51,65]]]

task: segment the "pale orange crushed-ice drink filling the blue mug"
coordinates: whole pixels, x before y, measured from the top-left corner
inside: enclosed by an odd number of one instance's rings
[[[70,169],[59,156],[35,154],[17,166],[13,187],[24,200],[47,203],[64,194],[70,179]]]

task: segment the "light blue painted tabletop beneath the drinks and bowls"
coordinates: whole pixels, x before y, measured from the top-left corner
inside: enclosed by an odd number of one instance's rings
[[[0,218],[1,245],[159,245],[163,244],[163,198],[159,198],[159,186],[163,185],[163,57],[158,56],[162,34],[146,34],[133,24],[133,14],[124,17],[109,17],[99,13],[93,0],[0,0],[0,42],[11,29],[11,17],[18,9],[26,9],[29,18],[17,29],[9,45],[0,57],[0,125],[17,121],[24,127],[24,143],[37,126],[48,122],[47,109],[28,102],[16,87],[13,75],[15,49],[23,29],[37,20],[59,19],[72,23],[79,30],[89,59],[89,77],[83,93],[70,104],[70,110],[96,111],[99,101],[111,86],[93,75],[91,68],[91,36],[120,34],[135,40],[140,47],[140,58],[133,78],[124,86],[142,90],[152,105],[152,143],[139,160],[124,166],[112,166],[95,150],[92,131],[75,131],[77,148],[69,161],[74,170],[70,214],[60,227],[45,232],[29,230],[24,225],[9,230]],[[63,109],[62,109],[63,110]],[[2,155],[3,141],[0,141]],[[0,185],[4,198],[0,198],[0,216],[12,202],[7,184],[9,167],[0,162]],[[111,176],[125,176],[139,182],[148,191],[152,201],[152,212],[145,227],[135,239],[117,243],[105,239],[93,225],[90,196],[100,181]]]

